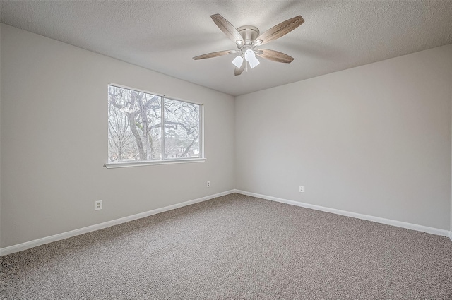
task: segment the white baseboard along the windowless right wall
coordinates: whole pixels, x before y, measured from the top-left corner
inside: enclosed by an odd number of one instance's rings
[[[436,235],[440,235],[440,236],[448,236],[452,240],[452,232],[450,232],[448,230],[444,230],[444,229],[427,227],[427,226],[422,226],[422,225],[412,224],[412,223],[407,223],[407,222],[400,222],[400,221],[396,221],[396,220],[389,220],[389,219],[384,219],[383,217],[374,217],[374,216],[371,216],[371,215],[362,215],[362,214],[359,214],[359,213],[356,213],[356,212],[347,212],[345,210],[336,210],[335,208],[326,208],[326,207],[319,206],[319,205],[313,205],[313,204],[309,204],[309,203],[302,203],[302,202],[298,202],[298,201],[294,201],[294,200],[287,200],[287,199],[283,199],[283,198],[276,198],[276,197],[272,197],[272,196],[261,195],[261,194],[258,194],[258,193],[250,193],[250,192],[247,192],[247,191],[235,190],[235,193],[241,193],[241,194],[246,195],[246,196],[252,196],[252,197],[263,198],[263,199],[266,199],[266,200],[272,200],[272,201],[276,201],[276,202],[280,202],[280,203],[286,203],[286,204],[290,204],[290,205],[301,206],[302,208],[311,208],[313,210],[321,210],[323,212],[331,212],[331,213],[336,214],[336,215],[344,215],[344,216],[347,216],[347,217],[355,217],[357,219],[362,219],[362,220],[367,220],[367,221],[372,221],[372,222],[377,222],[377,223],[382,223],[382,224],[388,224],[388,225],[392,225],[392,226],[396,226],[396,227],[402,227],[402,228],[406,228],[406,229],[412,229],[412,230],[416,230],[418,232],[427,232],[429,234],[436,234]]]

